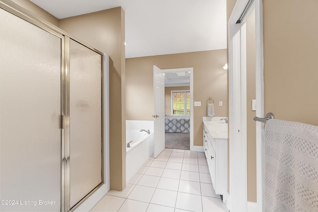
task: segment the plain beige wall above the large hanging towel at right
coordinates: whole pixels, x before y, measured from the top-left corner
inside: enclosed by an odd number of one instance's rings
[[[318,125],[318,1],[263,1],[265,113]]]

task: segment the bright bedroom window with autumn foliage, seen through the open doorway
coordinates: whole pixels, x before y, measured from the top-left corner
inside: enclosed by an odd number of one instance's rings
[[[172,115],[190,115],[190,91],[171,91]]]

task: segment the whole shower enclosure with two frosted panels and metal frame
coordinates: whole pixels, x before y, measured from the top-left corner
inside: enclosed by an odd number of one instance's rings
[[[0,211],[73,211],[103,184],[103,54],[0,0]]]

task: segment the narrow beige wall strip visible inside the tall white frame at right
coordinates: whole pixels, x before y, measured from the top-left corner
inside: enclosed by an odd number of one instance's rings
[[[256,123],[252,100],[256,99],[255,12],[246,21],[247,201],[256,199]]]

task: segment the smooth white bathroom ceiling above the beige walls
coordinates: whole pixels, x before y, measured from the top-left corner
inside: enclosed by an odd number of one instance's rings
[[[226,0],[30,0],[59,19],[122,6],[126,58],[227,48]]]

